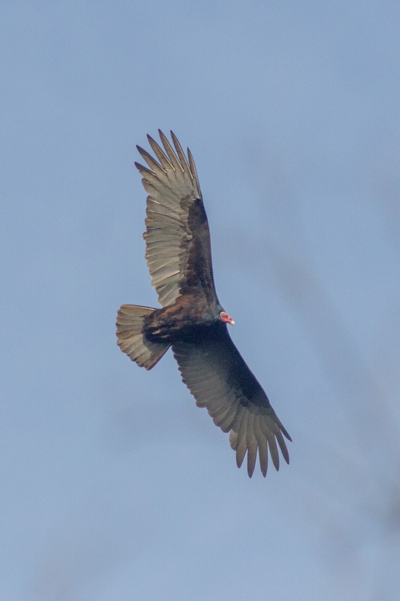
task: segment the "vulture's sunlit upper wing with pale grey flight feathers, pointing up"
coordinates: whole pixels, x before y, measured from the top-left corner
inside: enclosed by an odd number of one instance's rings
[[[160,133],[165,151],[148,136],[158,159],[140,148],[149,168],[135,163],[143,176],[147,198],[146,260],[152,285],[163,307],[181,294],[204,294],[216,301],[212,275],[210,232],[196,166],[171,132],[175,151]]]

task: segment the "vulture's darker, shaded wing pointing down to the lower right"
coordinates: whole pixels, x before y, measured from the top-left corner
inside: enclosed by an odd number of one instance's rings
[[[225,325],[218,326],[204,340],[173,344],[172,350],[182,380],[196,398],[196,404],[207,407],[216,426],[230,432],[230,444],[236,450],[239,468],[247,451],[247,471],[251,477],[258,449],[261,472],[265,476],[269,448],[273,465],[279,469],[276,442],[289,463],[282,434],[290,441],[291,438],[234,346]]]

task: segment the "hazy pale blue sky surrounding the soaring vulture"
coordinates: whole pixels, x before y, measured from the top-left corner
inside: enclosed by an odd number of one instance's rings
[[[0,597],[400,598],[400,4],[2,2]],[[293,438],[238,470],[168,353],[134,168],[189,146],[231,337]]]

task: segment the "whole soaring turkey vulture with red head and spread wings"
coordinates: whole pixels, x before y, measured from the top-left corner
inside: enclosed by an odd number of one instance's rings
[[[228,334],[233,319],[216,296],[210,233],[199,179],[190,150],[185,156],[171,132],[173,150],[158,130],[164,150],[151,136],[158,160],[137,147],[147,167],[135,163],[148,192],[146,260],[161,309],[122,305],[117,316],[118,345],[137,365],[150,370],[172,347],[182,380],[199,407],[207,407],[216,426],[230,432],[240,468],[247,452],[252,476],[255,459],[265,476],[268,451],[279,469],[289,463],[282,435],[291,441],[267,395]]]

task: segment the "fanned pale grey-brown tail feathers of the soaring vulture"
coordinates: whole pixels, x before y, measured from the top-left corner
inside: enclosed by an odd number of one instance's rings
[[[149,341],[142,333],[143,320],[155,309],[122,305],[117,314],[117,344],[140,367],[151,370],[169,349],[169,344]]]

